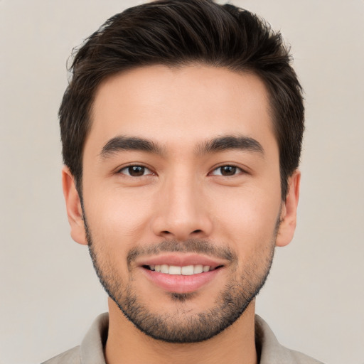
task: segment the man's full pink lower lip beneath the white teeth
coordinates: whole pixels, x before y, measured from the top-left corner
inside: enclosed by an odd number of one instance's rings
[[[179,274],[165,274],[141,267],[146,277],[161,289],[173,293],[192,293],[211,282],[222,268],[214,269],[209,272],[191,274],[189,276]]]

